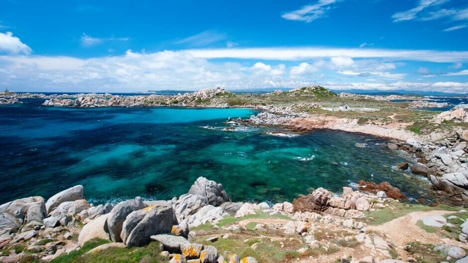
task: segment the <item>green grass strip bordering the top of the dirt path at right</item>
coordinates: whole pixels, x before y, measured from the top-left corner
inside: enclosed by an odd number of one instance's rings
[[[406,214],[418,211],[430,211],[430,210],[447,210],[447,211],[459,211],[460,207],[452,207],[449,205],[441,204],[439,206],[431,207],[421,204],[405,204],[399,202],[392,202],[390,207],[379,209],[366,213],[366,217],[362,219],[363,222],[368,225],[381,225],[389,222],[395,218],[402,217]]]

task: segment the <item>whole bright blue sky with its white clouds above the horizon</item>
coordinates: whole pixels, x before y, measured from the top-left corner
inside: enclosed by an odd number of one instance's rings
[[[462,0],[3,0],[0,88],[468,92],[467,47]]]

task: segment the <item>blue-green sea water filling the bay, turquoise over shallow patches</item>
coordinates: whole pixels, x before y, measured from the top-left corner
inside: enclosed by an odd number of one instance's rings
[[[427,180],[392,169],[409,156],[370,136],[224,130],[228,117],[249,117],[250,109],[76,109],[40,102],[0,107],[0,203],[47,198],[76,184],[95,202],[169,199],[186,193],[198,176],[223,183],[239,201],[292,200],[317,187],[339,192],[359,179],[387,180],[411,197],[430,198]]]

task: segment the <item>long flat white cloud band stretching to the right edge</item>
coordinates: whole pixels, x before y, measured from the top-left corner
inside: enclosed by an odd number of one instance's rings
[[[352,59],[386,58],[391,60],[447,63],[468,61],[468,51],[345,49],[313,47],[188,49],[185,51],[196,58],[205,59],[234,58],[298,61],[314,58],[350,57]]]

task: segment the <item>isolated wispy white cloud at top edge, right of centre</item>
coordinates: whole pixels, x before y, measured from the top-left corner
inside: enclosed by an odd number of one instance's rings
[[[336,1],[337,0],[318,0],[314,4],[304,5],[300,9],[283,13],[281,17],[287,20],[310,23],[315,19],[324,17],[326,12],[331,8],[330,5]]]

